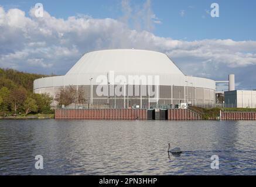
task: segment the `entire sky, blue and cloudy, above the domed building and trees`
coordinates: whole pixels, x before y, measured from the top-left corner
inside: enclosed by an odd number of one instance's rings
[[[1,0],[0,67],[63,75],[88,51],[146,49],[167,54],[186,75],[235,74],[237,89],[256,89],[255,8],[251,0]]]

